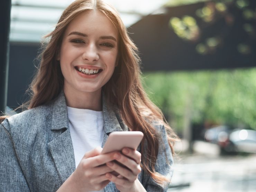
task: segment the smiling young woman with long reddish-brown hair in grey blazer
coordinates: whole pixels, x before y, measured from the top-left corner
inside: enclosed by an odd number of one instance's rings
[[[166,191],[175,134],[143,91],[117,11],[74,1],[47,38],[28,110],[1,117],[0,191]],[[144,138],[101,154],[113,131]]]

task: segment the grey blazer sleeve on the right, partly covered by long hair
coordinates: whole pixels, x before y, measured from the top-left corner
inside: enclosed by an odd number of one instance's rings
[[[165,175],[167,178],[171,179],[173,175],[173,157],[171,148],[168,144],[167,135],[165,131],[165,127],[162,125],[160,128],[161,140],[159,142],[157,161],[155,165],[156,172],[161,175]],[[146,183],[146,184],[145,184]],[[166,192],[168,189],[169,182],[161,185],[156,183],[152,177],[148,174],[143,174],[143,185],[147,192]]]

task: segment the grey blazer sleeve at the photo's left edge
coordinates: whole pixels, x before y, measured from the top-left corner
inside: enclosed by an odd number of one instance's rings
[[[13,147],[9,123],[0,124],[0,191],[30,191]]]

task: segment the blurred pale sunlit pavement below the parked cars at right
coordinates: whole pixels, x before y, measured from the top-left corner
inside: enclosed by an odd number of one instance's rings
[[[168,191],[256,192],[256,154],[220,156],[208,143],[195,147],[196,153],[176,155]]]

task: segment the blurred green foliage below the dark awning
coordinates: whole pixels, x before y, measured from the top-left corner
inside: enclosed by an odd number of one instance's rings
[[[178,131],[185,118],[256,129],[256,68],[145,73],[144,87]]]

